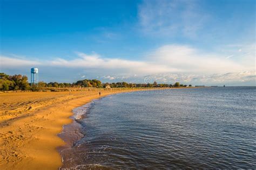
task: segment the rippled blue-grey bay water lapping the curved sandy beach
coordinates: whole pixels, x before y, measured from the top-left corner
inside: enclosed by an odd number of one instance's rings
[[[77,120],[84,136],[62,152],[62,168],[255,168],[255,92],[170,89],[96,100],[79,108],[87,109]]]

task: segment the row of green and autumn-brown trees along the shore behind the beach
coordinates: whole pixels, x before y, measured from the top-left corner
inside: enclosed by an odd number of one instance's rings
[[[191,84],[188,85],[191,87]],[[78,80],[74,83],[58,83],[58,82],[38,82],[38,86],[33,86],[28,82],[28,77],[25,75],[7,75],[0,73],[0,90],[32,90],[36,91],[43,88],[64,88],[64,87],[92,87],[92,88],[146,88],[146,87],[187,87],[186,84],[176,82],[174,84],[160,83],[156,81],[153,83],[127,83],[127,82],[114,82],[102,83],[99,80]]]

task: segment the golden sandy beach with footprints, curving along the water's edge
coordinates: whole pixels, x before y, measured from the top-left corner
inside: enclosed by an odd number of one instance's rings
[[[72,122],[72,109],[93,99],[138,89],[0,94],[0,169],[58,169],[57,134]]]

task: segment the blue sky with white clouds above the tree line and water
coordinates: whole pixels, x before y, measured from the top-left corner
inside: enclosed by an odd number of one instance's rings
[[[0,0],[0,72],[256,86],[255,1]]]

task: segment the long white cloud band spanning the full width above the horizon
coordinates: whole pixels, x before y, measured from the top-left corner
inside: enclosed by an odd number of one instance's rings
[[[1,56],[1,68],[40,66],[60,69],[76,69],[88,79],[99,77],[107,81],[143,82],[145,75],[157,75],[161,82],[224,82],[255,80],[255,53],[248,52],[239,56],[240,60],[230,60],[236,55],[209,54],[199,49],[183,45],[165,45],[147,53],[144,60],[125,60],[104,58],[97,53],[77,52],[77,57],[44,61],[30,61]],[[72,74],[72,73],[70,73]],[[160,76],[164,75],[164,76]],[[81,77],[81,75],[79,75]],[[82,76],[84,78],[85,76]]]

